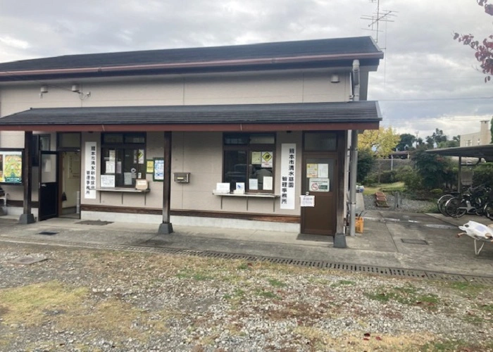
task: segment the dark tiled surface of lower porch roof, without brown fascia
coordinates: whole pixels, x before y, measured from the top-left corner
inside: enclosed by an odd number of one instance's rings
[[[204,125],[227,123],[377,122],[376,101],[210,106],[33,108],[0,118],[12,125]]]

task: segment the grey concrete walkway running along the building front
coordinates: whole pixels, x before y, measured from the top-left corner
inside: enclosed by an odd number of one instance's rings
[[[347,249],[335,249],[332,237],[317,235],[185,226],[161,235],[157,234],[158,225],[82,225],[77,223],[80,220],[68,218],[18,225],[15,218],[0,217],[0,241],[166,247],[493,277],[493,244],[487,243],[475,256],[473,239],[456,237],[460,230],[455,222],[461,225],[478,219],[368,211],[363,234],[347,237]],[[411,243],[405,243],[409,240]]]

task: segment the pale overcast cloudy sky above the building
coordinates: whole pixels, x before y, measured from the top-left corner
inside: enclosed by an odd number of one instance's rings
[[[493,115],[493,83],[453,32],[493,34],[475,0],[380,0],[385,49],[368,99],[383,124],[425,137],[479,130]],[[373,35],[376,0],[0,0],[0,62],[65,54]]]

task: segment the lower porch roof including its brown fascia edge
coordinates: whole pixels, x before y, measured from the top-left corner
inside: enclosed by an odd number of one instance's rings
[[[376,101],[214,106],[33,108],[0,130],[46,132],[376,130]]]

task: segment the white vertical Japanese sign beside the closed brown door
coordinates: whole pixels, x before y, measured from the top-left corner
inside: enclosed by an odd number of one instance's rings
[[[296,199],[294,186],[296,185],[296,144],[283,143],[281,145],[281,209],[294,209]]]

